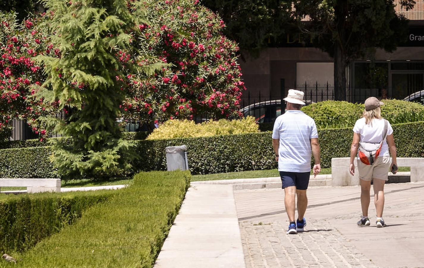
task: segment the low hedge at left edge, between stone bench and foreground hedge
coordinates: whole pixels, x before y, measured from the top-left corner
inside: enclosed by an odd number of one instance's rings
[[[113,191],[6,195],[0,200],[0,251],[25,251],[81,217]]]

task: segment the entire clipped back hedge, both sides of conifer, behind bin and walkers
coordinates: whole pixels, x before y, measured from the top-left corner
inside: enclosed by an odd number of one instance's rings
[[[424,122],[393,125],[398,157],[424,157]],[[330,167],[331,158],[348,157],[352,128],[318,130],[321,166]],[[271,133],[221,135],[200,138],[134,141],[139,159],[137,170],[166,170],[165,147],[187,145],[192,174],[257,169],[274,169]],[[0,150],[0,177],[53,177],[47,156],[49,147]],[[36,163],[36,164],[34,164]]]

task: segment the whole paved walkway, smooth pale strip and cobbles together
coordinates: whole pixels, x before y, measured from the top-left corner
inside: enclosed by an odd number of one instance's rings
[[[424,267],[424,183],[385,186],[379,229],[372,199],[371,226],[356,226],[358,186],[310,187],[297,235],[285,234],[282,189],[233,183],[192,182],[155,267]]]

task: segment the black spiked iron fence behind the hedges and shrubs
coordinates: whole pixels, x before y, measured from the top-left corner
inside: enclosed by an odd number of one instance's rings
[[[258,123],[273,122],[275,118],[285,111],[284,98],[287,91],[291,88],[304,92],[304,101],[306,105],[326,100],[334,100],[334,87],[330,87],[328,83],[321,86],[318,82],[314,85],[305,83],[302,87],[282,87],[278,94],[263,94],[259,92],[257,95],[246,92],[241,97],[240,112],[243,116],[254,116]],[[418,102],[424,105],[424,90],[422,87],[388,87],[388,88],[351,88],[346,89],[346,101],[353,103],[363,103],[370,96],[376,96],[379,99],[396,98],[405,101]],[[63,119],[64,113],[58,113],[57,118]],[[209,120],[209,116],[197,115],[193,119],[196,123]],[[118,120],[119,121],[119,120]],[[38,135],[28,127],[26,122],[14,120],[12,122],[14,130],[9,140],[25,140],[29,138],[37,138]],[[154,125],[140,124],[139,122],[131,122],[124,127],[125,131],[137,132],[152,130]],[[59,136],[57,133],[50,133],[51,136]]]

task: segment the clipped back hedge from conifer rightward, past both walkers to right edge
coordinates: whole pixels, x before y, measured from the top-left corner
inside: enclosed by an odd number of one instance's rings
[[[393,125],[398,157],[424,157],[424,122]],[[257,169],[274,169],[270,132],[223,135],[204,138],[137,141],[142,170],[166,169],[165,147],[187,145],[192,174],[208,174]],[[349,157],[352,128],[318,130],[321,167],[331,167],[331,158]],[[312,162],[313,164],[313,162]]]

